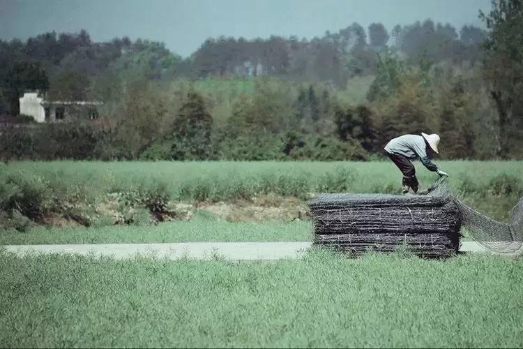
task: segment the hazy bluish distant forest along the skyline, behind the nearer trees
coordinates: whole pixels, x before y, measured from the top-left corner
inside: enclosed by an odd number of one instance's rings
[[[21,40],[0,40],[0,112],[17,114],[23,89],[49,89],[50,97],[107,99],[116,79],[146,77],[172,81],[208,77],[269,76],[292,81],[324,81],[344,89],[353,77],[377,72],[377,53],[397,52],[409,64],[430,61],[476,64],[486,31],[427,19],[391,33],[381,23],[365,29],[354,23],[338,33],[312,40],[271,36],[209,38],[187,59],[164,43],[114,38],[95,43],[82,30],[77,34],[50,32]],[[64,96],[65,95],[65,96]],[[69,95],[69,96],[67,96]]]

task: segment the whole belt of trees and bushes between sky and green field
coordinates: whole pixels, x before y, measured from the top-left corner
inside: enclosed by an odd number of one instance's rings
[[[105,106],[100,123],[3,132],[0,151],[4,158],[368,160],[395,135],[430,130],[441,133],[444,158],[520,158],[520,2],[493,1],[479,14],[486,30],[464,26],[458,34],[425,20],[388,33],[379,23],[367,30],[355,23],[312,40],[209,39],[187,59],[147,40],[93,43],[86,31],[3,41],[4,113],[17,114],[24,89]],[[365,98],[350,96],[355,85]]]

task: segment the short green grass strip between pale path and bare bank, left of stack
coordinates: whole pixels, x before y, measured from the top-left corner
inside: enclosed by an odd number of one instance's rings
[[[190,222],[100,228],[32,228],[0,233],[0,245],[116,244],[162,242],[305,242],[312,239],[309,221],[229,223],[195,216]]]

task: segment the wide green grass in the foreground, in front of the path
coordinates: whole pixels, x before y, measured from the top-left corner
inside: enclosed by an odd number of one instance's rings
[[[521,348],[522,260],[0,253],[0,346]]]

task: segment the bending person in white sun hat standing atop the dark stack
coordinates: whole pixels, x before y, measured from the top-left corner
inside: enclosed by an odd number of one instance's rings
[[[385,146],[386,154],[393,163],[400,169],[403,174],[402,194],[407,194],[409,188],[412,188],[414,193],[418,193],[419,183],[416,178],[416,169],[411,163],[411,160],[418,157],[421,163],[432,172],[437,172],[440,176],[447,176],[445,172],[439,170],[432,161],[430,161],[429,149],[434,150],[438,154],[439,135],[402,135],[394,138]]]

